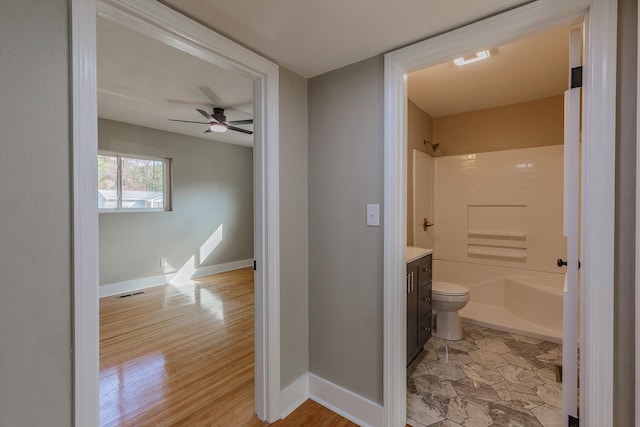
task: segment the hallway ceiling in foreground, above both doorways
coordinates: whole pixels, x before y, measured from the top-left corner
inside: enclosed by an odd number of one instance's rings
[[[525,0],[161,0],[303,77],[388,52]]]

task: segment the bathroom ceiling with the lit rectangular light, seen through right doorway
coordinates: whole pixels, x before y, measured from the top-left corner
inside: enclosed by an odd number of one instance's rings
[[[408,96],[432,117],[515,104],[562,94],[568,67],[565,28],[492,49],[483,61],[411,73]]]

